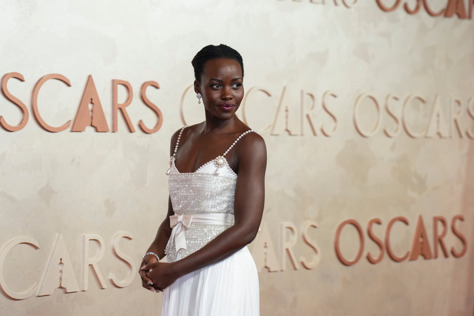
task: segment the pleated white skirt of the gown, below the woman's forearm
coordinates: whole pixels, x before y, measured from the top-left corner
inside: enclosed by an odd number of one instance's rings
[[[161,315],[259,316],[258,274],[248,248],[177,279],[164,291]]]

